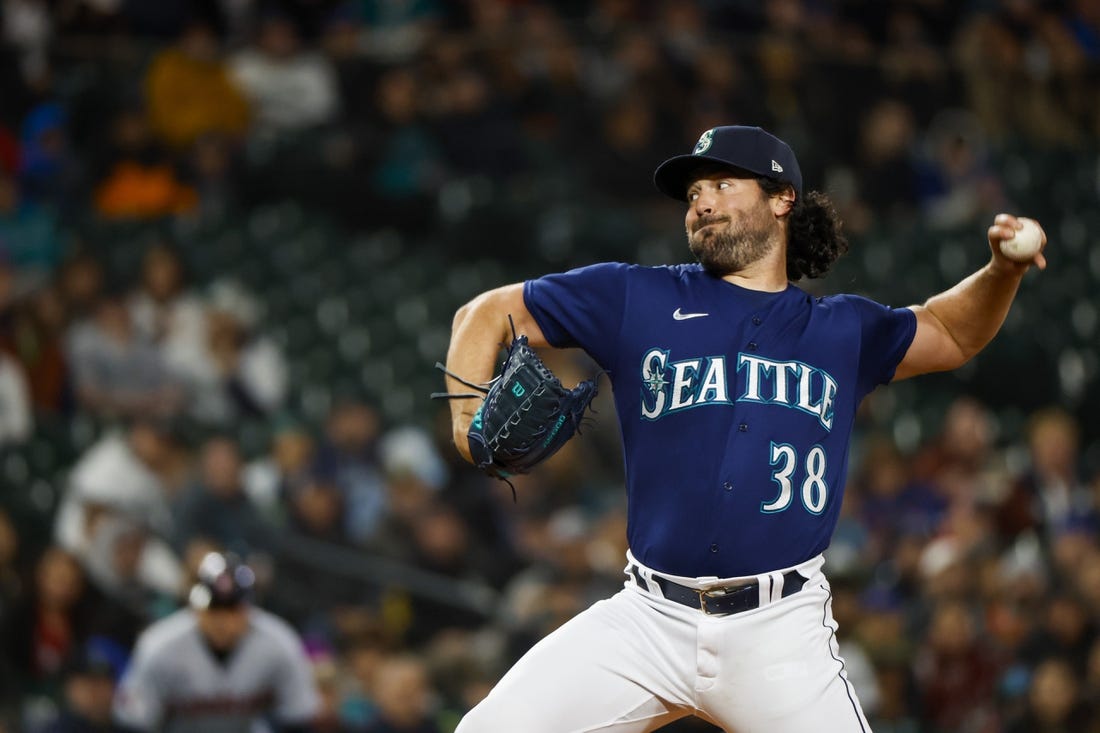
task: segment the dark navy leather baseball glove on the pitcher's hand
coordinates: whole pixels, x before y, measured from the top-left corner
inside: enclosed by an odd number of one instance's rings
[[[528,346],[527,337],[516,336],[515,326],[501,373],[487,384],[468,382],[440,363],[436,368],[477,393],[437,392],[432,397],[484,395],[466,439],[474,464],[497,479],[526,473],[558,452],[579,431],[584,411],[596,396],[598,379],[597,374],[565,389]]]

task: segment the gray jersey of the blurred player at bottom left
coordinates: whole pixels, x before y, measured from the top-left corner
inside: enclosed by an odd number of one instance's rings
[[[142,731],[257,733],[304,723],[319,698],[301,641],[282,619],[250,609],[250,628],[219,661],[190,609],[151,625],[134,648],[114,701],[116,719]]]

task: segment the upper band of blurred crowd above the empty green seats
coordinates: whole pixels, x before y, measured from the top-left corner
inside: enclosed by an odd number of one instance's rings
[[[950,226],[1001,204],[997,146],[1100,132],[1098,15],[1089,0],[6,0],[0,205],[25,240],[9,256],[50,264],[54,217],[82,205],[217,216],[294,195],[415,228],[477,177],[640,205],[654,155],[730,122],[790,140],[849,226]]]

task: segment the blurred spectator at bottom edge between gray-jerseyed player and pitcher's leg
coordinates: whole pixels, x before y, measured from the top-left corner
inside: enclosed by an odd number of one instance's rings
[[[391,657],[374,678],[378,716],[364,733],[442,733],[431,716],[431,683],[424,661]]]

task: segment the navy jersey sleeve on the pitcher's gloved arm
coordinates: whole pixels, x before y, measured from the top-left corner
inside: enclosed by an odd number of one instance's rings
[[[630,265],[602,263],[524,283],[524,303],[551,346],[580,347],[610,369]]]

